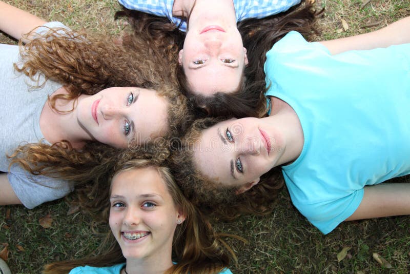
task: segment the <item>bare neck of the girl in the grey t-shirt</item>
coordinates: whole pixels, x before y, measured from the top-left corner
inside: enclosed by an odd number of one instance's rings
[[[51,97],[57,94],[68,93],[63,87],[56,90]],[[78,100],[89,95],[80,95]],[[40,114],[40,129],[44,138],[51,144],[61,140],[67,140],[73,148],[81,148],[91,140],[90,135],[79,125],[76,117],[76,106],[78,102],[57,100],[53,109],[47,101]],[[74,107],[74,109],[73,109]],[[72,111],[70,111],[73,109]]]

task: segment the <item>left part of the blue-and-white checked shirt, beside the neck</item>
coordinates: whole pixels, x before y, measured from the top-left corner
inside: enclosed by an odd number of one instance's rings
[[[118,0],[118,3],[129,10],[167,17],[172,23],[179,26],[180,31],[187,31],[187,23],[181,18],[172,16],[173,0]]]

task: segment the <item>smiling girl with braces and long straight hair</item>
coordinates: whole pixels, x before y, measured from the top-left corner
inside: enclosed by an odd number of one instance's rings
[[[168,168],[149,160],[119,165],[109,204],[107,251],[46,265],[44,273],[231,273],[225,267],[234,255],[183,196]]]

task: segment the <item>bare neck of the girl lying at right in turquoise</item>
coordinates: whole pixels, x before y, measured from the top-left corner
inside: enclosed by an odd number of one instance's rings
[[[281,130],[283,154],[275,166],[295,161],[302,152],[304,136],[300,120],[293,108],[286,102],[271,97],[272,111],[267,118],[271,126]]]

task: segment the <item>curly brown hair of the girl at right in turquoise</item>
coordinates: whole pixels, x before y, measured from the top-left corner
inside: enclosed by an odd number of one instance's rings
[[[214,213],[223,219],[233,219],[242,213],[263,215],[271,212],[284,185],[279,168],[263,174],[259,183],[250,190],[236,194],[236,188],[221,186],[195,166],[193,154],[199,147],[202,130],[221,121],[221,118],[197,120],[180,142],[173,143],[171,156],[166,161],[175,181],[186,197],[203,212]]]

